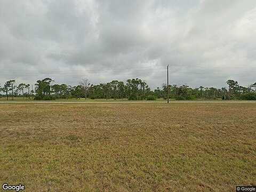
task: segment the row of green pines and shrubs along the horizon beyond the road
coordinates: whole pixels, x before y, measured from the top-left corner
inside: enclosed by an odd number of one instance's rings
[[[89,79],[82,79],[76,86],[67,84],[55,84],[52,78],[44,78],[35,83],[35,90],[30,90],[30,85],[25,83],[17,84],[15,80],[0,85],[0,97],[33,98],[34,100],[52,100],[69,98],[90,98],[90,99],[129,99],[129,100],[155,100],[157,98],[169,98],[176,100],[191,99],[243,99],[256,100],[256,83],[247,87],[241,86],[237,81],[229,79],[228,87],[215,88],[199,86],[191,88],[188,85],[163,84],[155,90],[150,90],[149,85],[139,78],[127,79],[126,82],[111,81],[93,85]]]

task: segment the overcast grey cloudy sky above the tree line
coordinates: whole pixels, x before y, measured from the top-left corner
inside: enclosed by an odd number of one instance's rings
[[[256,82],[255,0],[1,0],[0,83]]]

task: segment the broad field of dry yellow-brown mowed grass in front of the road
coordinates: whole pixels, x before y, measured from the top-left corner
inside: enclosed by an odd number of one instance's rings
[[[0,183],[26,191],[256,185],[256,103],[1,103]]]

